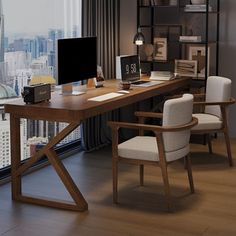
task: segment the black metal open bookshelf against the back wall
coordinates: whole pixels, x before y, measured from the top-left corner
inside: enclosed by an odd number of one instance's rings
[[[145,2],[146,5],[143,5]],[[205,86],[208,75],[218,75],[219,72],[219,24],[220,24],[220,0],[206,0],[206,8],[203,11],[185,11],[185,6],[191,4],[190,0],[177,0],[176,5],[169,5],[171,1],[137,1],[137,28],[141,28],[142,33],[145,36],[146,44],[154,46],[154,38],[164,33],[158,33],[158,29],[162,30],[166,27],[166,34],[160,37],[167,38],[167,60],[146,60],[142,58],[144,55],[144,46],[138,46],[137,51],[141,56],[141,67],[144,72],[152,70],[170,70],[174,72],[174,59],[188,59],[187,50],[189,45],[205,46],[205,76],[199,79],[193,77],[192,80]],[[164,5],[160,5],[164,4]],[[161,22],[159,22],[159,17]],[[199,42],[193,41],[179,41],[178,33],[180,35],[186,34],[186,28],[188,27],[188,20],[185,19],[199,18],[201,21],[201,34],[202,39]],[[164,20],[163,20],[164,19]],[[214,32],[212,30],[214,26]],[[177,32],[177,36],[171,38],[170,28],[175,28],[173,31]],[[177,29],[178,28],[178,29]],[[198,26],[196,28],[199,28]],[[194,30],[194,28],[193,28]],[[198,29],[199,30],[199,29]],[[164,31],[164,30],[163,30]],[[212,58],[209,59],[213,51]],[[172,52],[174,53],[172,55]],[[175,55],[176,54],[176,55]]]

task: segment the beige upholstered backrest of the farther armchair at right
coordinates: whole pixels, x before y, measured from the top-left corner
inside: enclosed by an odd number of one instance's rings
[[[220,76],[209,76],[206,85],[206,102],[223,102],[231,97],[231,80]],[[220,106],[206,106],[205,113],[221,118]]]

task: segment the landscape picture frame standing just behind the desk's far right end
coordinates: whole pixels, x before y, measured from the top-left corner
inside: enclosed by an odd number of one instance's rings
[[[197,60],[175,60],[175,73],[178,76],[196,77]]]

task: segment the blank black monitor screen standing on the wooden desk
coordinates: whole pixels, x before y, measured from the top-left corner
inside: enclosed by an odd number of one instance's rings
[[[57,84],[68,84],[97,76],[97,38],[57,41]]]

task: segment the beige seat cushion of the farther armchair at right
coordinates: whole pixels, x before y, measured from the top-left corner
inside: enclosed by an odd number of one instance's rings
[[[198,118],[198,124],[192,130],[215,130],[222,127],[222,121],[218,116],[206,113],[193,114]]]

